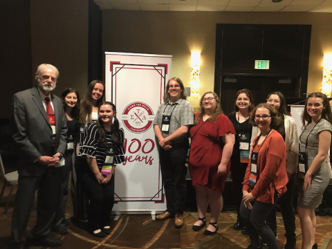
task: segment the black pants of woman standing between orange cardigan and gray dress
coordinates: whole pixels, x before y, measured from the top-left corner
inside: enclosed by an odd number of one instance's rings
[[[288,181],[287,191],[283,194],[277,205],[282,210],[282,219],[284,220],[284,226],[286,230],[287,241],[295,241],[295,211],[293,208],[293,192],[294,192],[294,180],[293,178]],[[277,220],[276,220],[276,210],[273,208],[270,214],[268,214],[268,218],[266,219],[266,223],[273,230],[273,233],[277,235]]]

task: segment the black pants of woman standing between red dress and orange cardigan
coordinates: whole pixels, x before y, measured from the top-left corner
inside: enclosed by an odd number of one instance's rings
[[[246,175],[248,163],[235,163],[234,161],[235,160],[231,161],[230,166],[230,173],[232,174],[232,199],[235,207],[237,208],[237,216],[238,218],[241,218],[240,206],[242,201],[242,182],[244,176]]]

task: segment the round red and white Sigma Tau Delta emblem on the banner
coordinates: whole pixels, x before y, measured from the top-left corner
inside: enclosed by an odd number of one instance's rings
[[[133,102],[124,108],[121,119],[129,131],[142,133],[152,126],[154,111],[143,102]]]

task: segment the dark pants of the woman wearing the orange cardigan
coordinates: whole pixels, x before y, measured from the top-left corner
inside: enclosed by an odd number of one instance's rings
[[[278,197],[275,194],[275,202]],[[252,201],[252,210],[245,207],[243,201],[241,202],[240,214],[241,219],[248,228],[248,234],[252,246],[259,248],[259,236],[266,241],[268,248],[278,249],[278,243],[275,239],[275,234],[271,228],[266,225],[266,218],[270,214],[271,210],[274,208],[273,203],[263,203],[261,201]]]

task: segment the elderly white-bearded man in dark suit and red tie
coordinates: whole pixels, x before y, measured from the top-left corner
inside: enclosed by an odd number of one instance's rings
[[[18,159],[19,186],[12,214],[10,248],[28,248],[24,232],[37,197],[37,224],[33,246],[57,247],[61,240],[49,237],[60,189],[59,171],[66,149],[66,120],[62,100],[53,95],[59,71],[50,64],[37,68],[37,86],[12,99],[12,138]]]

